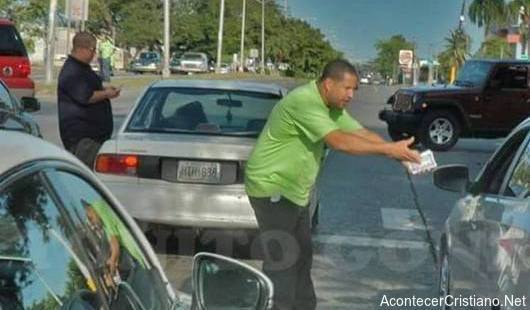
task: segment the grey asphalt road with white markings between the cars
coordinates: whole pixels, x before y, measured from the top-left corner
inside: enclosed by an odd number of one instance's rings
[[[350,111],[386,136],[377,119],[394,89],[362,86]],[[125,87],[114,100],[115,128],[140,90]],[[35,114],[45,139],[60,145],[54,97],[39,98]],[[466,164],[475,176],[500,140],[463,139],[439,164]],[[384,309],[382,297],[437,296],[436,253],[443,223],[458,194],[435,188],[431,175],[408,177],[397,162],[331,152],[320,178],[320,224],[314,234],[313,278],[318,309]],[[163,232],[159,239],[169,232]],[[193,248],[194,244],[190,244]],[[157,247],[168,276],[190,291],[191,252]],[[166,255],[167,254],[167,255]],[[259,266],[259,261],[250,261]]]

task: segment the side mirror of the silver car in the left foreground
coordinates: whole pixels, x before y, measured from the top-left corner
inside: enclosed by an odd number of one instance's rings
[[[272,309],[272,296],[272,282],[260,271],[222,255],[195,255],[193,301],[196,309]]]

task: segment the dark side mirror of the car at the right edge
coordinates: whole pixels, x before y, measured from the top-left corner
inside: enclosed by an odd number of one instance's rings
[[[469,188],[469,169],[465,165],[442,166],[434,170],[433,182],[443,190],[463,193]]]

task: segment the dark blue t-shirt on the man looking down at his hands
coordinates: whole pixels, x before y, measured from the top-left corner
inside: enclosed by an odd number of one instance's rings
[[[57,84],[59,132],[66,147],[82,138],[104,141],[112,135],[110,100],[88,103],[97,90],[103,83],[90,65],[68,56]]]

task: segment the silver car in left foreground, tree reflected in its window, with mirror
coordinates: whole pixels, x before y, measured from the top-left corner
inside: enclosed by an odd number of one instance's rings
[[[195,256],[192,297],[173,290],[135,221],[79,160],[21,133],[0,145],[2,309],[272,307],[266,276],[216,254]]]

